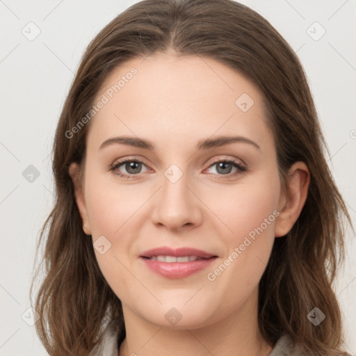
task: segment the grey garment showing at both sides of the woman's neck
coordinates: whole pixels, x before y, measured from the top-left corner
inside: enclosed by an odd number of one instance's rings
[[[91,351],[89,356],[118,356],[119,346],[119,327],[117,323],[111,321],[104,331],[102,341],[100,341],[97,346]],[[296,353],[293,350],[293,341],[288,334],[283,334],[282,337],[277,341],[273,350],[268,354],[268,356],[300,356],[300,353]]]

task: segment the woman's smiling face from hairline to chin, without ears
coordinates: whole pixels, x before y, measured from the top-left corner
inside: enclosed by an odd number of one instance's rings
[[[77,201],[124,312],[191,328],[250,315],[284,199],[259,90],[216,60],[156,54],[118,67],[99,101]]]

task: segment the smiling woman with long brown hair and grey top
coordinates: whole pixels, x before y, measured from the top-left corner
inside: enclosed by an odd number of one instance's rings
[[[230,0],[136,3],[58,122],[50,355],[345,355],[346,206],[300,62]],[[47,329],[48,325],[48,329]]]

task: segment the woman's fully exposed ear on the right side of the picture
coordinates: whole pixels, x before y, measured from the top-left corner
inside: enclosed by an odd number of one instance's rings
[[[288,172],[286,190],[281,195],[275,237],[286,235],[296,223],[307,200],[309,182],[310,173],[307,165],[304,162],[294,163]]]

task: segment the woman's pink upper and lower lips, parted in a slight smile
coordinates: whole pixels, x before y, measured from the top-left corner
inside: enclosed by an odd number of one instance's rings
[[[156,256],[172,256],[172,257],[192,257],[195,256],[195,261],[188,262],[165,262],[149,259]],[[209,266],[217,258],[214,254],[197,250],[195,248],[154,248],[140,255],[146,266],[153,272],[167,278],[184,278],[188,277],[199,270]]]

